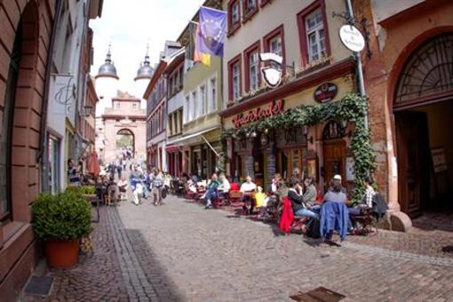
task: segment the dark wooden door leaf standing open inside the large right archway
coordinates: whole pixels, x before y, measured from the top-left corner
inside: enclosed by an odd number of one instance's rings
[[[401,210],[415,218],[427,198],[429,140],[426,114],[401,112],[395,115],[398,155],[398,195]]]

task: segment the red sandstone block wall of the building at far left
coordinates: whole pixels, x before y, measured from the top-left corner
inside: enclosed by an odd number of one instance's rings
[[[36,264],[30,204],[39,190],[36,155],[54,9],[55,0],[0,0],[0,125],[12,45],[21,15],[24,20],[12,126],[12,222],[0,225],[0,296],[4,301],[15,300]]]

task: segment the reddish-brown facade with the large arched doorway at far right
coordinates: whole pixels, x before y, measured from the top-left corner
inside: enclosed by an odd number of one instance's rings
[[[362,57],[377,185],[393,228],[407,230],[453,190],[453,4],[363,0],[354,10],[370,24],[371,55]]]

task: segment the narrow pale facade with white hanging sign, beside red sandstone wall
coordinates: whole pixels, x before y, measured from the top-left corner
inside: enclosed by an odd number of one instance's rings
[[[83,163],[84,152],[89,149],[83,134],[84,99],[92,63],[92,31],[88,22],[99,16],[94,2],[63,2],[61,5],[52,56],[42,174],[44,189],[53,193],[67,186],[68,159]]]

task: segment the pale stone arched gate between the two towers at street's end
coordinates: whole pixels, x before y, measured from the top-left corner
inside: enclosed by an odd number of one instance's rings
[[[146,110],[141,100],[120,92],[106,107],[102,116],[104,162],[115,163],[123,154],[130,154],[135,163],[146,161]],[[129,152],[128,152],[129,151]]]

